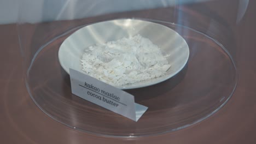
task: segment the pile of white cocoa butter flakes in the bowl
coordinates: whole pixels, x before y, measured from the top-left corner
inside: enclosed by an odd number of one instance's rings
[[[81,62],[86,74],[113,86],[154,79],[170,68],[159,47],[141,35],[89,46]]]

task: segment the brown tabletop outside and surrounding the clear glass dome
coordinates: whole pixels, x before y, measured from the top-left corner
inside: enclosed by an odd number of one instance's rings
[[[256,24],[253,10],[255,6],[255,2],[250,2],[240,25],[234,27],[237,49],[230,52],[236,53],[234,57],[240,78],[236,91],[228,103],[210,118],[186,129],[136,139],[86,134],[65,127],[46,116],[27,93],[24,81],[25,69],[18,48],[15,25],[0,26],[2,46],[0,56],[4,65],[0,76],[1,141],[3,143],[253,143],[256,132],[254,129],[256,128],[254,124],[256,68],[254,67],[255,38],[253,38]]]

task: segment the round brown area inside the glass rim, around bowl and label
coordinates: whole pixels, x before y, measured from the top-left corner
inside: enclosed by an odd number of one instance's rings
[[[86,133],[137,137],[179,130],[211,116],[231,97],[236,67],[224,47],[191,28],[159,22],[187,41],[190,56],[183,70],[157,85],[129,89],[138,104],[149,107],[138,122],[103,109],[71,93],[69,75],[62,69],[58,50],[65,38],[43,47],[27,71],[27,88],[48,116]],[[171,39],[170,39],[171,40]]]

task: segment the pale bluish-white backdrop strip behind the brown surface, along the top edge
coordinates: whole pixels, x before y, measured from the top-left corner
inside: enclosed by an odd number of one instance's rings
[[[0,24],[79,19],[210,0],[0,0]],[[19,9],[20,8],[20,9]],[[19,18],[18,18],[19,17]]]

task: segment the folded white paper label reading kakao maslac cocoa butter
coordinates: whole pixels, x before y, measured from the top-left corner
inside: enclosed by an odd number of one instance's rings
[[[134,96],[100,80],[69,69],[71,89],[74,95],[110,111],[138,121],[148,107],[135,103]]]

